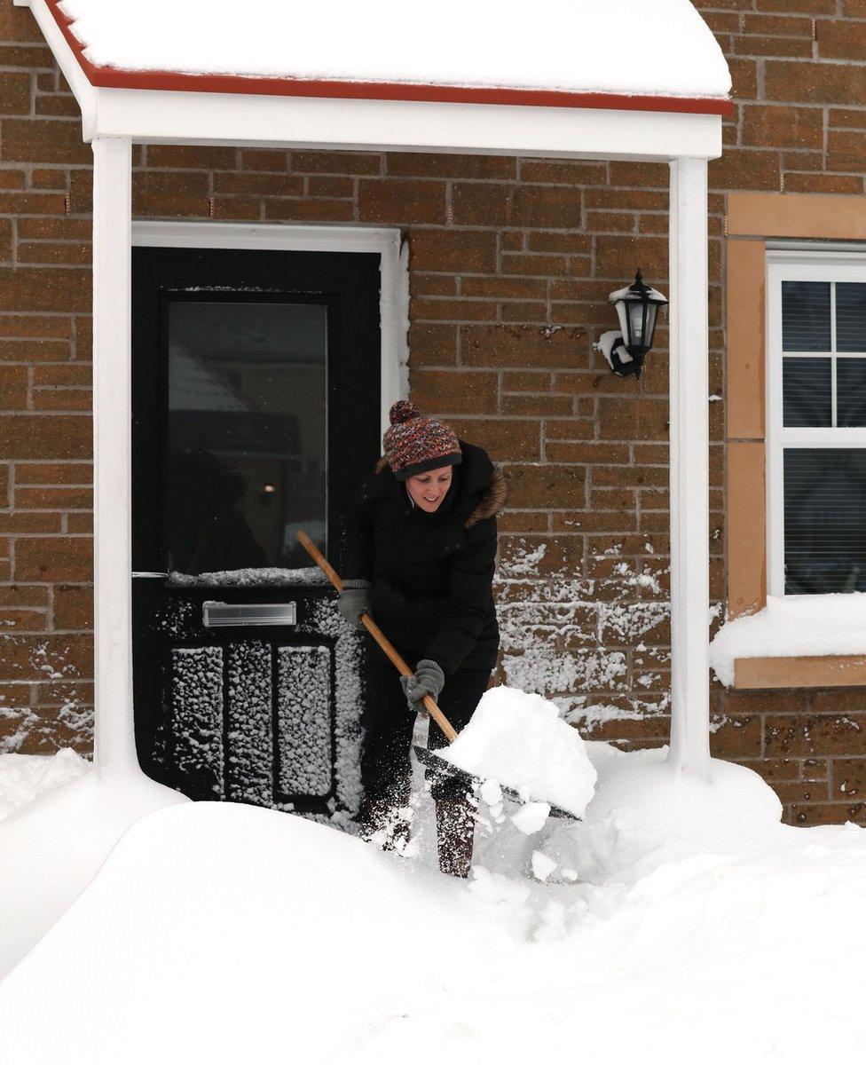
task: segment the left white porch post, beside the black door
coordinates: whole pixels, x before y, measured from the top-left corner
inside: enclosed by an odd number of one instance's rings
[[[95,761],[102,776],[137,771],[132,719],[132,148],[97,136],[94,151]]]

